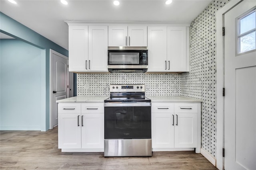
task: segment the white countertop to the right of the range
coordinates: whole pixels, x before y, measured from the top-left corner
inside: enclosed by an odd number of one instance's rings
[[[203,102],[203,100],[196,98],[189,98],[185,96],[146,96],[151,99],[151,102]]]

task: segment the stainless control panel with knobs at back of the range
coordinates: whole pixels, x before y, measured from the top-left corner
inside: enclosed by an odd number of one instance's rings
[[[110,92],[145,92],[145,84],[110,84]]]

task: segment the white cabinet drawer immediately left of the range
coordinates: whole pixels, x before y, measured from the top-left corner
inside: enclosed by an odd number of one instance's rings
[[[83,103],[82,113],[104,113],[104,103]]]

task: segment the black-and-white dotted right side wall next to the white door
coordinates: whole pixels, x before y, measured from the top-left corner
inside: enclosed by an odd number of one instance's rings
[[[202,148],[216,156],[216,12],[229,1],[212,1],[190,26],[190,72],[181,95],[202,99]]]

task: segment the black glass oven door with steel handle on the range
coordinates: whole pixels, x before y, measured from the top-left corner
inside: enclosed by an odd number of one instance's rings
[[[151,104],[105,103],[104,139],[151,139]]]

